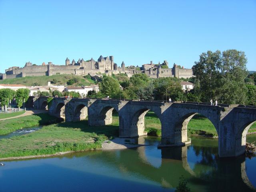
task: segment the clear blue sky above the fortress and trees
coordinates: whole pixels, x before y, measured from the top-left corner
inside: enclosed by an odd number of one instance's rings
[[[0,72],[100,55],[191,68],[202,52],[227,49],[256,70],[255,0],[0,0]]]

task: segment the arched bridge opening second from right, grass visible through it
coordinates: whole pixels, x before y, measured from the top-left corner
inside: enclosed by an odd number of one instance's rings
[[[174,132],[176,143],[188,141],[188,134],[218,137],[214,123],[206,116],[198,113],[189,113],[180,118],[175,124]]]

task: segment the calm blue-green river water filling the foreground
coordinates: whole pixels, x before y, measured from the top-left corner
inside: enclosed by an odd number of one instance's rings
[[[256,136],[247,136],[247,141]],[[88,151],[54,158],[6,161],[0,167],[0,192],[17,191],[174,191],[183,175],[192,191],[254,191],[256,158],[218,158],[218,140],[193,137],[190,146],[151,146]]]

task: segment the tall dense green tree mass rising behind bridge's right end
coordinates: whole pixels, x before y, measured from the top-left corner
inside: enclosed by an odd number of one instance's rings
[[[244,82],[246,63],[244,52],[234,49],[202,53],[193,66],[195,92],[204,102],[212,98],[222,103],[244,104],[248,91]]]

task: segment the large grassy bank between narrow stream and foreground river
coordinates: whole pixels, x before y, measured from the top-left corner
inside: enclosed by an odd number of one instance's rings
[[[55,154],[101,148],[106,136],[118,136],[118,117],[106,126],[88,126],[88,120],[44,126],[30,134],[0,140],[0,158]]]

